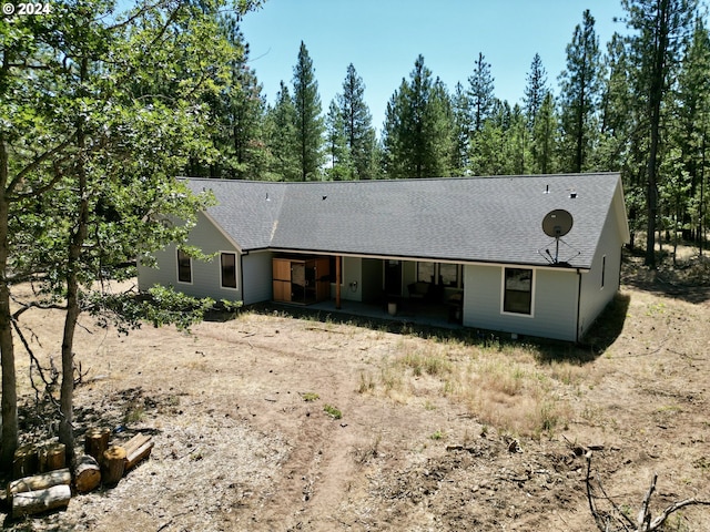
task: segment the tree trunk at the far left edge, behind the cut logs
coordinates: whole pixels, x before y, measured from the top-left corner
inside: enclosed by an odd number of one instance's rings
[[[14,376],[14,346],[12,345],[12,316],[8,285],[9,202],[6,195],[9,177],[8,152],[0,134],[0,366],[2,367],[2,437],[0,469],[10,471],[18,448],[18,395]]]

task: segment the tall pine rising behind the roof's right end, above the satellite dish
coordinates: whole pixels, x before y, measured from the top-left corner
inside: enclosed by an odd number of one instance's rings
[[[588,158],[596,142],[596,117],[601,96],[601,63],[595,19],[586,10],[582,24],[575,28],[567,45],[567,69],[560,74],[562,153],[566,170],[588,170]]]

